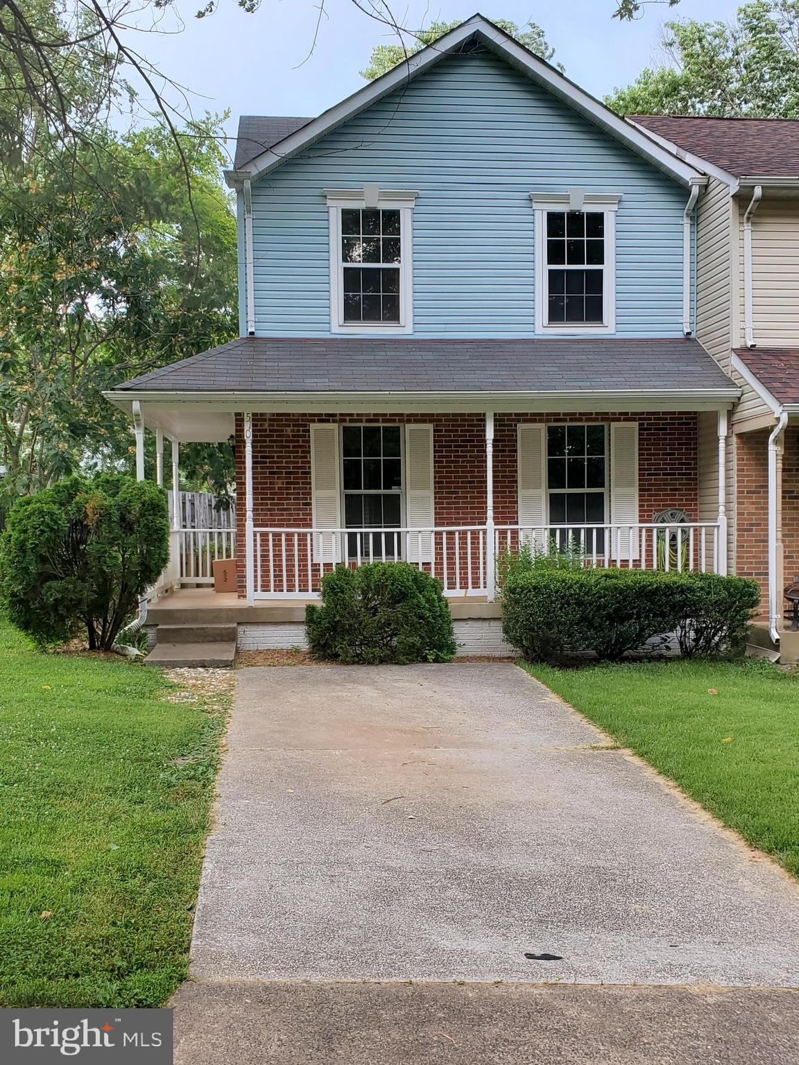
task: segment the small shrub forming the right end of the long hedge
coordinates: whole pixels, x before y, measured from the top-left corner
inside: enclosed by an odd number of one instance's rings
[[[740,655],[761,600],[756,580],[684,573],[688,602],[676,628],[680,653],[686,657]]]

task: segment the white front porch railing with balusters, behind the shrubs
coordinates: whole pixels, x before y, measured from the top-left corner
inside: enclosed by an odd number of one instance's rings
[[[218,531],[218,530],[217,530]],[[254,530],[257,599],[313,599],[337,564],[403,559],[433,574],[446,595],[493,597],[494,564],[525,544],[576,551],[584,564],[639,570],[715,571],[719,525],[486,525],[430,528]],[[218,556],[222,557],[222,556]]]

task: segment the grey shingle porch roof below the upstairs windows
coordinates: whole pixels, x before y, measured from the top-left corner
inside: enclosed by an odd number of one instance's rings
[[[571,392],[735,389],[696,340],[242,338],[129,392]]]

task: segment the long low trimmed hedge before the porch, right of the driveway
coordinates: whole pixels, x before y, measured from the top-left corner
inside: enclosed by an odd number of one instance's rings
[[[618,660],[674,630],[686,655],[732,654],[743,649],[757,599],[753,581],[740,577],[544,567],[508,578],[502,622],[532,661],[585,652]]]

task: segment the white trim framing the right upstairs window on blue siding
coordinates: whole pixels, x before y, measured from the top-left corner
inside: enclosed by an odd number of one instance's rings
[[[576,197],[575,197],[575,194]],[[547,335],[600,337],[616,332],[616,211],[621,196],[582,193],[531,193],[535,212],[535,257],[536,257],[536,304],[535,331]],[[575,201],[580,204],[575,207]],[[603,284],[602,325],[558,322],[550,325],[547,321],[549,301],[547,299],[547,212],[585,210],[605,215],[605,263]]]

